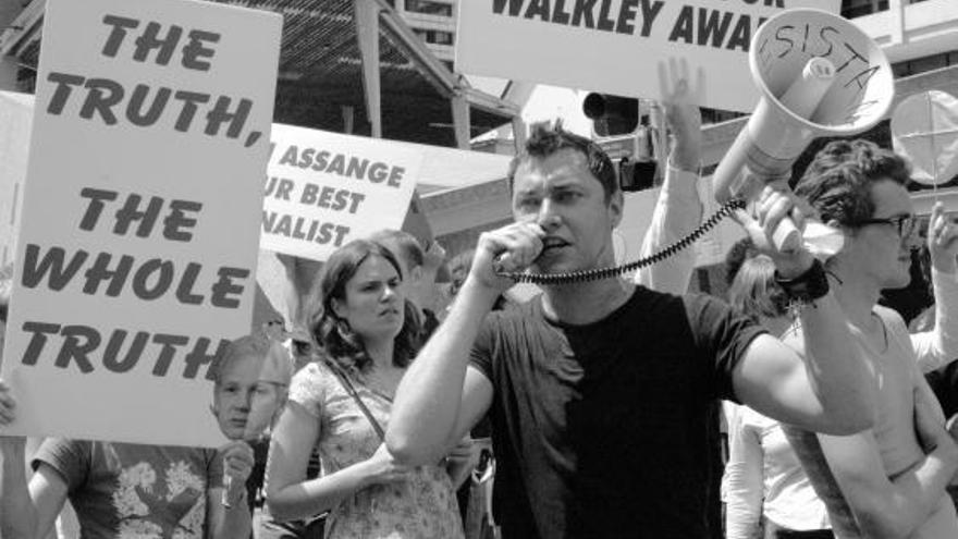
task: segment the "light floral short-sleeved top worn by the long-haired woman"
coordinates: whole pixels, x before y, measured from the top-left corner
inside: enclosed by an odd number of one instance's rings
[[[356,392],[383,429],[392,402],[357,383]],[[293,378],[290,401],[320,422],[323,474],[366,461],[382,443],[356,401],[328,367],[309,364]],[[408,481],[374,485],[343,500],[326,523],[326,537],[367,539],[457,539],[463,524],[452,481],[440,466],[420,466]]]

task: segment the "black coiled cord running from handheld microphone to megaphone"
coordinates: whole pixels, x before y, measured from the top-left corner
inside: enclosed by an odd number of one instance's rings
[[[616,266],[612,268],[597,268],[585,271],[573,271],[569,273],[525,273],[519,271],[502,271],[498,272],[501,277],[506,277],[512,279],[513,281],[519,283],[532,283],[532,284],[573,284],[573,283],[581,283],[589,281],[598,281],[600,279],[609,279],[612,277],[618,277],[624,273],[629,273],[639,268],[644,268],[646,266],[651,266],[653,264],[660,262],[679,250],[686,249],[690,247],[693,243],[696,243],[702,235],[704,235],[710,230],[714,229],[723,219],[730,216],[733,211],[738,209],[745,209],[746,203],[739,198],[733,198],[727,203],[723,204],[721,208],[718,208],[715,213],[712,213],[709,219],[705,219],[702,224],[700,224],[696,230],[691,231],[689,235],[683,237],[681,240],[675,242],[674,244],[664,247],[658,253],[653,253],[646,258],[641,258],[634,262],[629,262],[623,266]]]

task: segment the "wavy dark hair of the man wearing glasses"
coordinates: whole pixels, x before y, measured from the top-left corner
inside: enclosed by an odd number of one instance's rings
[[[860,138],[833,140],[815,155],[795,194],[808,200],[822,221],[855,226],[874,216],[875,183],[906,185],[910,179],[908,162],[894,151]]]

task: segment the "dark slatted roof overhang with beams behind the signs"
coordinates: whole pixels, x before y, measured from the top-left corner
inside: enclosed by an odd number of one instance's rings
[[[275,121],[334,132],[371,134],[354,0],[208,0],[281,13],[284,17]],[[378,10],[382,136],[456,146],[452,100],[465,100],[470,136],[519,115],[519,107],[468,86],[437,59],[385,0]],[[45,0],[33,0],[0,34],[0,52],[35,72]]]

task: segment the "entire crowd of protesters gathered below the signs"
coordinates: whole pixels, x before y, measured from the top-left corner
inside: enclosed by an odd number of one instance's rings
[[[702,217],[687,93],[665,100],[675,139],[643,255]],[[0,537],[56,534],[69,501],[85,538],[954,539],[958,229],[936,206],[920,231],[908,179],[891,150],[839,140],[795,194],[766,186],[737,216],[730,304],[684,294],[692,252],[515,302],[503,272],[615,266],[624,209],[598,145],[536,125],[508,170],[514,223],[453,262],[400,231],[355,240],[299,291],[297,326],[225,348],[223,448],[0,436]],[[776,249],[787,218],[835,228],[842,250]],[[877,303],[919,248],[935,305],[909,333]],[[721,400],[737,403],[724,480]],[[0,381],[0,428],[15,414]],[[491,500],[457,498],[492,462]],[[478,524],[459,504],[482,506]]]

